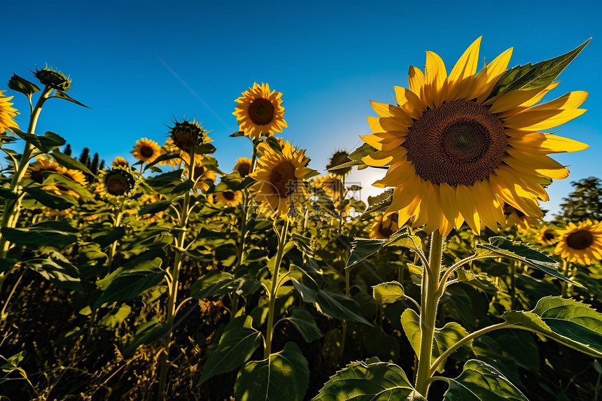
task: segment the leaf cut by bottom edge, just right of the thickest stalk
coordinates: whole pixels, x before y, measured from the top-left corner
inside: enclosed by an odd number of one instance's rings
[[[444,401],[528,401],[500,372],[480,360],[469,360],[460,376],[448,380]]]

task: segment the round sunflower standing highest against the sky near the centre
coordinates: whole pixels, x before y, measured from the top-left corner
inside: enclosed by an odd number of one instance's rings
[[[242,96],[236,99],[238,106],[235,107],[234,115],[241,131],[251,139],[259,139],[261,136],[270,136],[274,132],[282,132],[286,127],[284,121],[284,108],[282,94],[272,90],[269,91],[267,83],[253,83],[253,87],[242,92]]]

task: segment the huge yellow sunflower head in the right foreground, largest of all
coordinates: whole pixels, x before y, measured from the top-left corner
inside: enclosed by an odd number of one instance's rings
[[[548,153],[587,148],[571,139],[539,132],[581,115],[587,92],[569,92],[537,103],[557,83],[509,90],[491,97],[512,49],[477,73],[478,38],[451,69],[426,52],[426,75],[410,66],[409,89],[395,87],[398,104],[372,102],[379,117],[368,117],[372,134],[361,136],[377,152],[363,157],[373,167],[388,167],[374,183],[394,187],[387,213],[399,212],[403,225],[440,230],[466,221],[474,232],[505,223],[506,202],[526,216],[541,218],[538,198],[548,195],[537,177],[566,178],[568,170]]]

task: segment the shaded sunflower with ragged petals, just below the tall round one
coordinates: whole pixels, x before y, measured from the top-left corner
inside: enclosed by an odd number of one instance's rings
[[[290,143],[286,142],[282,153],[268,149],[257,162],[257,168],[249,174],[259,181],[251,190],[255,191],[255,201],[265,205],[277,216],[285,217],[292,207],[300,206],[307,199],[304,179],[315,174],[307,166],[309,157],[305,150],[293,153]]]

